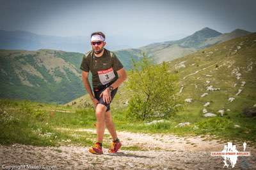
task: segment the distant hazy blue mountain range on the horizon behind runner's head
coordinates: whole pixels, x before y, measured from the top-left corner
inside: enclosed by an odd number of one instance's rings
[[[169,39],[180,37],[182,36],[168,36]],[[137,48],[152,42],[161,41],[161,39],[163,38],[152,39],[143,35],[140,37],[108,35],[106,41],[109,50],[120,50],[124,48]],[[47,36],[28,31],[0,30],[0,49],[40,50],[42,48],[84,53],[88,52],[92,46],[90,46],[89,36]]]

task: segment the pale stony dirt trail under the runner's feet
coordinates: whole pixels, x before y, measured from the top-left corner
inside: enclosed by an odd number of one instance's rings
[[[94,129],[76,131],[95,133]],[[124,146],[138,146],[145,150],[108,153],[108,148],[104,148],[103,155],[93,155],[87,147],[81,146],[0,145],[0,168],[29,164],[42,166],[42,169],[223,169],[223,159],[210,155],[223,150],[224,143],[220,141],[131,132],[118,132],[118,136]],[[238,144],[237,150],[242,151],[243,146]],[[247,146],[246,152],[252,156],[238,157],[232,169],[256,169],[255,149]],[[43,168],[46,165],[49,168]]]

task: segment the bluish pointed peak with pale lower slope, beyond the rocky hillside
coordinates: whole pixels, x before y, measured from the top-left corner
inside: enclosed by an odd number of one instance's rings
[[[250,33],[251,32],[236,29],[230,33],[221,34],[221,32],[205,27],[204,29],[196,31],[194,34],[187,36],[186,38],[176,41],[152,43],[147,46],[142,46],[139,49],[147,52],[148,56],[152,57],[157,63],[161,63],[163,61],[183,57],[207,46],[221,43],[223,41],[227,41],[228,39],[245,36]]]

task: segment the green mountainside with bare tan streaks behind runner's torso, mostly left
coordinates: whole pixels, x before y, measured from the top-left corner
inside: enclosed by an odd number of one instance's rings
[[[116,51],[125,69],[140,50]],[[120,57],[121,55],[121,57]],[[0,50],[0,97],[46,103],[67,103],[86,92],[81,81],[83,53],[40,49]]]

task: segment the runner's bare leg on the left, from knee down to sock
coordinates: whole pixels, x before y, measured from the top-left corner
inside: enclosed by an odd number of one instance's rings
[[[107,107],[103,104],[97,104],[95,115],[97,118],[97,142],[102,143],[105,130],[105,113]]]

